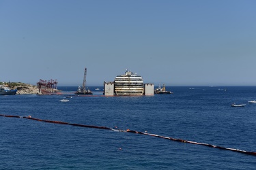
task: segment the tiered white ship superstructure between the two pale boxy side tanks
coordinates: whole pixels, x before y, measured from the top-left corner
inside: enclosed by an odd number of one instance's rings
[[[114,82],[115,95],[143,95],[143,78],[126,69],[123,75],[117,75]]]

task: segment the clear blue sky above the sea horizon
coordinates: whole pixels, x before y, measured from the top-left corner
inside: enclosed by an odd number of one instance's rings
[[[0,81],[256,85],[255,0],[0,0]]]

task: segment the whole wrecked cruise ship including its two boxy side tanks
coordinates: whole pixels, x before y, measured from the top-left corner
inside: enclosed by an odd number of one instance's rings
[[[124,74],[116,76],[114,82],[104,82],[104,95],[154,95],[154,84],[144,84],[141,75],[126,69]]]

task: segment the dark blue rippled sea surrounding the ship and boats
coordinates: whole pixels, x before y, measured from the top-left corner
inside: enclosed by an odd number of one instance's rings
[[[171,95],[0,96],[0,114],[153,133],[256,152],[256,86],[167,86]],[[59,100],[68,98],[70,102]],[[246,104],[231,107],[231,103]],[[255,169],[256,156],[141,135],[0,116],[0,169]]]

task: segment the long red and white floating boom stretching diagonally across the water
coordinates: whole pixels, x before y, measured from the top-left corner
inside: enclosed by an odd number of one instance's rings
[[[179,142],[183,142],[183,143],[191,143],[191,144],[196,144],[196,145],[201,145],[201,146],[208,146],[210,148],[218,148],[218,149],[221,149],[221,150],[230,150],[230,151],[233,151],[233,152],[240,152],[242,154],[248,154],[248,155],[256,156],[256,152],[248,152],[246,150],[238,150],[238,149],[234,149],[234,148],[225,148],[225,147],[221,147],[221,146],[214,146],[214,145],[209,144],[209,143],[200,143],[200,142],[196,142],[196,141],[176,139],[176,138],[173,138],[173,137],[165,137],[165,136],[156,135],[156,134],[152,134],[152,133],[132,131],[130,129],[119,130],[119,129],[113,129],[113,128],[109,128],[109,127],[105,127],[105,126],[93,126],[93,125],[86,125],[86,124],[76,124],[76,123],[61,122],[61,121],[55,121],[55,120],[42,120],[42,119],[39,119],[39,118],[32,118],[31,116],[12,116],[12,115],[4,115],[4,114],[0,114],[0,116],[7,117],[7,118],[25,118],[25,119],[36,120],[36,121],[40,121],[40,122],[48,122],[48,123],[55,123],[55,124],[67,124],[67,125],[81,126],[81,127],[86,127],[86,128],[106,129],[106,130],[118,131],[118,132],[137,133],[137,134],[141,134],[141,135],[150,135],[152,137],[160,137],[160,138],[169,139],[169,140],[172,140],[172,141],[179,141]]]

